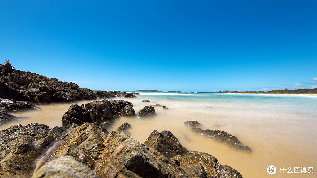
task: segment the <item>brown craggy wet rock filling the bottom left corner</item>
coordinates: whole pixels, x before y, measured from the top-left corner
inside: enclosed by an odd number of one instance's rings
[[[29,178],[35,169],[34,160],[58,139],[55,132],[37,123],[24,127],[19,124],[0,131],[0,177]]]

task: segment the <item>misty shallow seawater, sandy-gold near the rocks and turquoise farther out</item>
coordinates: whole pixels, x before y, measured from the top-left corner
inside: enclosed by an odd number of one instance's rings
[[[139,92],[133,103],[138,112],[155,101],[169,108],[155,107],[157,117],[135,119],[121,117],[111,130],[128,122],[132,137],[144,143],[153,130],[171,131],[188,150],[209,153],[219,163],[238,170],[244,178],[252,177],[315,177],[314,174],[295,174],[295,167],[317,168],[317,96],[257,95],[214,93],[155,93]],[[170,99],[167,99],[169,97]],[[82,101],[78,104],[87,103]],[[49,127],[61,126],[61,117],[71,104],[39,105],[42,110],[13,113],[27,117],[16,123],[1,125],[0,130],[21,123],[23,126],[37,122]],[[210,108],[211,107],[211,108]],[[184,126],[185,121],[197,120],[202,129],[223,130],[236,136],[252,149],[252,154],[236,151],[226,145],[206,140]],[[219,126],[220,125],[220,126]],[[275,175],[267,168],[274,165]],[[290,167],[293,173],[280,173],[280,168]],[[314,170],[313,169],[313,170]]]

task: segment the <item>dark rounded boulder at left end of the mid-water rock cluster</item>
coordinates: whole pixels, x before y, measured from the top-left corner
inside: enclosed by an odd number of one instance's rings
[[[92,123],[89,111],[80,107],[78,104],[72,104],[61,119],[62,126],[66,126],[71,123],[82,125],[85,122]]]

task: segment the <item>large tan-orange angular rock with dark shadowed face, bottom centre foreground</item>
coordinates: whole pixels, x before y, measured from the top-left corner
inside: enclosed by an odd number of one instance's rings
[[[186,178],[189,175],[153,148],[122,132],[111,132],[104,143],[98,177]]]

